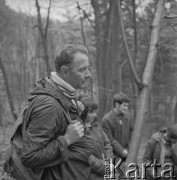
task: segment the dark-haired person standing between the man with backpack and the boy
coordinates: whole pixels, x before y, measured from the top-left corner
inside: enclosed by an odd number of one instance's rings
[[[89,156],[89,163],[92,166],[89,180],[103,180],[104,159],[113,158],[112,146],[98,121],[96,112],[98,105],[89,97],[82,98],[81,102],[84,105],[81,119],[84,121],[85,130],[93,133],[95,143],[94,152]]]

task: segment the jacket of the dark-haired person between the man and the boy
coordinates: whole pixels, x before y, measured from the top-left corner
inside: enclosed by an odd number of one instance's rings
[[[113,158],[113,149],[97,118],[92,123],[91,132],[94,135],[95,148],[89,157],[89,163],[92,166],[89,180],[103,180],[105,175],[104,160]]]

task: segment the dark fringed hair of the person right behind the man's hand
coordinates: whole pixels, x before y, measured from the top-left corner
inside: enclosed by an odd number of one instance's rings
[[[89,97],[82,98],[81,102],[84,105],[84,110],[82,111],[80,117],[83,120],[83,122],[85,122],[88,112],[92,112],[94,110],[97,110],[98,104],[95,101],[93,101],[92,98],[89,98]]]

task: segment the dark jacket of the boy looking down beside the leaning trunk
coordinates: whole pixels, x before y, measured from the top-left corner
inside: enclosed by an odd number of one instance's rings
[[[122,157],[123,149],[128,149],[133,132],[133,121],[130,116],[116,116],[111,110],[103,117],[102,128],[111,141],[115,156]]]

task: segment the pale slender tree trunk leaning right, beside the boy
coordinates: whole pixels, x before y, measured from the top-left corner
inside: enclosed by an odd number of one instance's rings
[[[136,163],[141,136],[142,136],[142,129],[143,129],[144,121],[146,118],[145,115],[148,112],[148,109],[147,109],[148,99],[149,99],[149,93],[151,90],[154,65],[156,61],[157,43],[159,39],[159,32],[160,32],[160,25],[161,25],[160,23],[162,20],[164,3],[165,3],[164,0],[158,1],[158,5],[157,5],[155,17],[154,17],[154,22],[153,22],[152,32],[151,32],[150,47],[149,47],[145,70],[143,73],[143,83],[145,84],[145,86],[140,92],[137,99],[137,111],[136,111],[137,114],[136,114],[136,120],[135,120],[135,126],[134,126],[134,134],[132,137],[129,154],[126,161],[127,165],[134,162]]]

